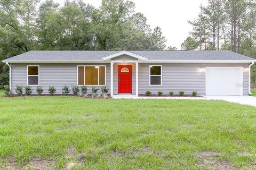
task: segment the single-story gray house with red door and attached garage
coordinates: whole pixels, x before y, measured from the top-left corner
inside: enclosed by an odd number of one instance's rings
[[[4,61],[10,87],[107,86],[118,94],[180,90],[199,95],[249,95],[253,58],[220,51],[30,51]],[[89,91],[90,92],[90,91]]]

